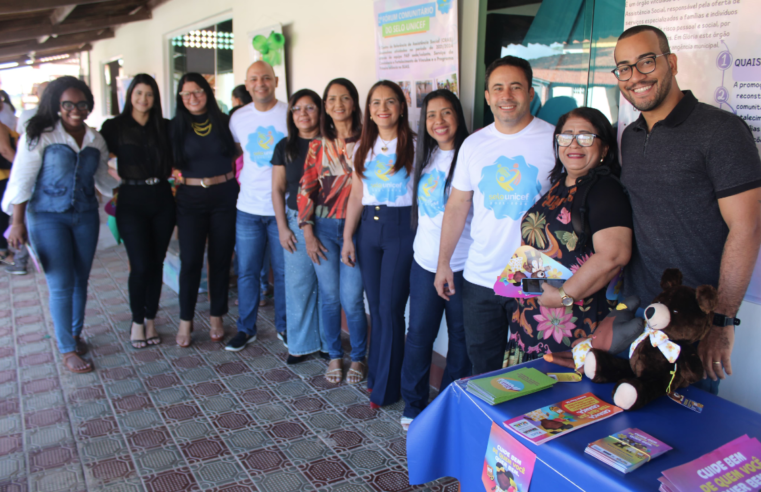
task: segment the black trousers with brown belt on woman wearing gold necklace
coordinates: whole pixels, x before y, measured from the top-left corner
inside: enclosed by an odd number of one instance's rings
[[[180,235],[180,319],[192,321],[201,285],[203,252],[209,242],[209,301],[212,316],[227,314],[230,261],[235,248],[234,179],[208,188],[180,186],[177,228]]]

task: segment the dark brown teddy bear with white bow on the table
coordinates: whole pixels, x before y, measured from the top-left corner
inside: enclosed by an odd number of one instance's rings
[[[682,272],[668,269],[663,290],[645,309],[644,332],[631,344],[629,360],[593,348],[584,374],[595,383],[617,382],[613,402],[637,410],[656,398],[703,378],[697,342],[711,329],[718,302],[716,289],[682,285]]]

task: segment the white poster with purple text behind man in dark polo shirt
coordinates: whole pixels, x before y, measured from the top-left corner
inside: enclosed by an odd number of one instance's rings
[[[627,0],[624,29],[648,24],[669,38],[677,80],[701,102],[748,124],[761,151],[761,3],[748,0]],[[621,97],[620,133],[639,113]],[[761,304],[761,256],[745,300]]]

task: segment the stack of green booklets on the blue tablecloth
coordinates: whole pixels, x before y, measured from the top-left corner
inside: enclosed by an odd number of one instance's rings
[[[466,389],[489,405],[498,405],[547,389],[553,384],[555,384],[554,379],[545,376],[533,367],[523,367],[496,376],[471,379]]]

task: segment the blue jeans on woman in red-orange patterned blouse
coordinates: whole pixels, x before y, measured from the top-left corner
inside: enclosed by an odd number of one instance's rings
[[[367,315],[365,314],[362,272],[341,263],[344,219],[315,219],[314,233],[327,248],[327,261],[314,265],[320,287],[322,331],[331,359],[342,359],[341,308],[346,313],[351,340],[351,360],[360,362],[367,353]]]

